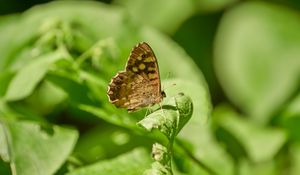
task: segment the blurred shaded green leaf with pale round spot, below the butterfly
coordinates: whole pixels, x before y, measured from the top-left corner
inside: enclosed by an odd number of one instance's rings
[[[73,155],[84,164],[90,164],[114,158],[136,147],[150,147],[152,142],[153,139],[144,133],[132,132],[109,124],[105,127],[98,125],[80,135]]]

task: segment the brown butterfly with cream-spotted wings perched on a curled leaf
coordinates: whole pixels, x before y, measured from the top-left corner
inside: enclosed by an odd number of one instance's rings
[[[128,112],[160,103],[166,97],[156,57],[147,43],[133,47],[125,70],[111,79],[107,95],[112,104]]]

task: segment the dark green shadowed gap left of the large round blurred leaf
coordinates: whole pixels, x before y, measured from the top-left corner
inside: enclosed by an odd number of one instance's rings
[[[209,2],[212,1],[209,0]],[[186,20],[172,36],[203,72],[211,92],[211,100],[214,102],[224,96],[213,67],[215,33],[221,15],[220,13],[197,14]]]

